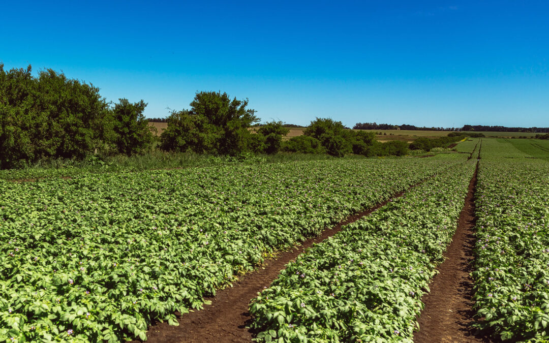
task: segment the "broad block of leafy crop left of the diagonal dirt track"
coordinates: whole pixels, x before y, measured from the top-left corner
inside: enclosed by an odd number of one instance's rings
[[[146,339],[154,320],[463,161],[328,160],[0,181],[0,340]]]

